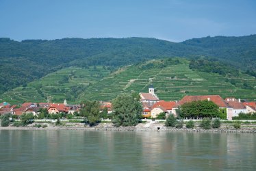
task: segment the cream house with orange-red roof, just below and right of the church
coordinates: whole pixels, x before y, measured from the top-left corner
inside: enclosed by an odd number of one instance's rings
[[[172,111],[175,110],[176,106],[175,101],[159,101],[152,106],[151,117],[156,118],[162,112],[166,113],[166,116],[173,114]]]

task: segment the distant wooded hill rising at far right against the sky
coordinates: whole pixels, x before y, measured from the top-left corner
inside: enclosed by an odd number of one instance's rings
[[[256,70],[256,35],[242,37],[193,38],[181,42],[192,47],[200,47],[203,52],[235,66]]]

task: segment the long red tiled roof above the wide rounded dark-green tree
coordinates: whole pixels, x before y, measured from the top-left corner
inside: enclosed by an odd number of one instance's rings
[[[192,101],[212,101],[218,107],[228,107],[227,103],[221,98],[219,95],[205,95],[205,96],[184,96],[181,101],[179,101],[179,105],[183,105],[184,103],[190,103]]]

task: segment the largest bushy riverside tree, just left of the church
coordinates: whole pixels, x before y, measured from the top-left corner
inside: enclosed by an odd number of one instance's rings
[[[114,111],[114,125],[116,127],[136,126],[142,116],[140,99],[130,94],[120,94],[112,102]]]

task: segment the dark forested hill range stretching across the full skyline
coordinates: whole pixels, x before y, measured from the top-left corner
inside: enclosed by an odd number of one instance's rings
[[[116,67],[163,57],[205,55],[223,59],[244,70],[255,70],[255,46],[255,35],[207,37],[181,43],[155,38],[64,38],[21,42],[0,38],[0,94],[66,66]]]

